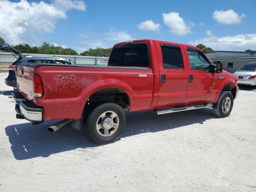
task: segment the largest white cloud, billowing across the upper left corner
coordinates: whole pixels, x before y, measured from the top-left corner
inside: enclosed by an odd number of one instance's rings
[[[68,10],[86,10],[82,0],[53,0],[41,2],[10,2],[1,0],[0,36],[9,44],[37,44],[40,33],[52,33],[59,19],[66,19]]]

